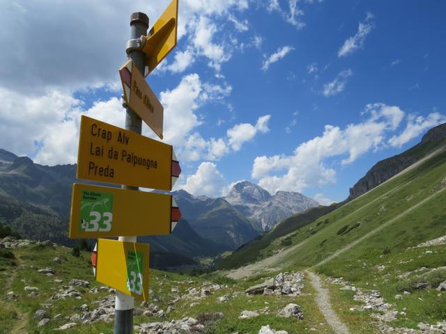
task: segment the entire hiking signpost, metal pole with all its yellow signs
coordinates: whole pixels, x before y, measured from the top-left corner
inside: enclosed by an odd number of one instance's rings
[[[114,333],[133,331],[134,298],[148,300],[149,246],[137,235],[169,234],[181,213],[169,195],[181,173],[171,145],[141,136],[142,120],[162,138],[164,109],[144,79],[176,46],[178,0],[172,0],[147,36],[148,17],[132,13],[129,60],[119,74],[123,84],[125,129],[81,118],[76,177],[123,189],[74,184],[70,238],[98,239],[91,262],[98,282],[116,289]],[[145,67],[148,68],[145,71]]]

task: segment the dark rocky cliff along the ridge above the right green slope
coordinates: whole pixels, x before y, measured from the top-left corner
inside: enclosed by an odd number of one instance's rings
[[[374,189],[379,184],[387,181],[390,177],[397,175],[401,170],[408,168],[408,166],[415,164],[415,162],[422,159],[431,150],[436,148],[438,143],[443,143],[446,139],[446,123],[438,125],[430,129],[422,138],[422,141],[394,157],[379,161],[373,166],[367,174],[359,180],[353,188],[350,189],[350,196],[348,200],[353,200],[361,196],[363,193]]]

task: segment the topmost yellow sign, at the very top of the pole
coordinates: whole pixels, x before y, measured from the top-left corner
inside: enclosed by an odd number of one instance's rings
[[[142,51],[146,54],[146,66],[150,74],[167,54],[176,47],[176,35],[178,30],[178,0],[172,0],[164,13],[153,24],[150,36],[146,37],[146,43]]]

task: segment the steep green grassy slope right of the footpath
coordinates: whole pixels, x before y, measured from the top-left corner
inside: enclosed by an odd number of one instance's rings
[[[375,289],[397,312],[394,327],[417,328],[446,319],[446,245],[417,248],[446,234],[446,151],[381,184],[360,198],[279,238],[263,256],[284,253],[274,267],[314,267],[356,289]],[[284,246],[284,240],[286,245]],[[357,290],[330,285],[337,312],[353,333],[376,316],[360,310]],[[357,298],[357,296],[355,297]],[[379,314],[379,312],[378,312]]]

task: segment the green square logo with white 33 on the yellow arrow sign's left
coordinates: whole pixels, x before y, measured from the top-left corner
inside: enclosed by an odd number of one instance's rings
[[[113,194],[82,191],[79,231],[109,232],[113,222]]]

